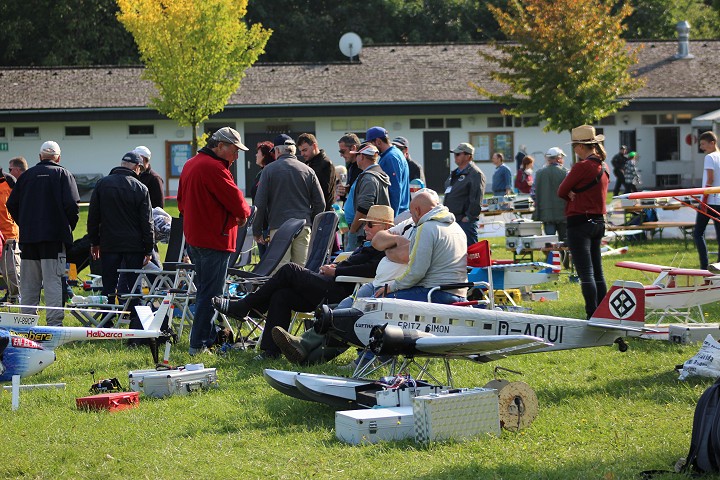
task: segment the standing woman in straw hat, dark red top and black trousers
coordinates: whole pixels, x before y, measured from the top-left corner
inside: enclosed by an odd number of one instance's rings
[[[607,293],[600,247],[605,235],[605,199],[610,172],[605,165],[607,153],[602,146],[604,135],[582,125],[572,130],[572,147],[580,161],[560,184],[558,196],[567,201],[567,245],[585,299],[585,313],[590,318]]]

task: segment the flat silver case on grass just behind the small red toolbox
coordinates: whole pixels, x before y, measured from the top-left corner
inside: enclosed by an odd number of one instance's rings
[[[177,370],[135,370],[128,374],[130,390],[148,397],[187,395],[201,388],[217,387],[217,369],[202,364]]]

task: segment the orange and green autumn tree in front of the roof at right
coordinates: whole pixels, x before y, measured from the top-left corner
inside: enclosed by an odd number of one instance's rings
[[[628,103],[621,97],[642,86],[630,74],[637,51],[620,38],[624,5],[612,0],[518,0],[506,11],[490,7],[512,43],[495,43],[483,55],[497,69],[491,77],[506,84],[496,94],[473,85],[479,94],[508,105],[514,116],[538,114],[545,131],[570,130],[593,123]]]

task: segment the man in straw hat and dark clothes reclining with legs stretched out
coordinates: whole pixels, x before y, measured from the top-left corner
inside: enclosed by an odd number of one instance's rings
[[[335,282],[335,277],[374,277],[380,260],[385,255],[371,246],[376,233],[393,225],[394,213],[386,205],[373,205],[368,210],[365,222],[367,241],[357,248],[350,257],[340,263],[323,265],[320,273],[314,273],[295,263],[283,265],[262,287],[241,299],[215,297],[213,306],[223,314],[242,319],[250,310],[267,312],[265,328],[268,331],[279,326],[290,327],[293,311],[311,312],[323,301],[337,303],[352,293],[353,285]],[[276,358],[280,349],[271,335],[263,335],[260,355],[256,360]]]

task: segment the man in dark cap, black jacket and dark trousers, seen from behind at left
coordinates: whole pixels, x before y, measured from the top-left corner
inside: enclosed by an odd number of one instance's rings
[[[115,303],[116,294],[130,293],[137,278],[132,273],[118,275],[118,269],[142,268],[155,245],[150,195],[138,180],[141,168],[140,155],[126,153],[120,166],[97,182],[90,198],[90,253],[93,260],[101,259],[102,293],[110,303]],[[142,328],[136,315],[131,315],[130,328]]]

